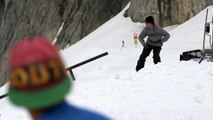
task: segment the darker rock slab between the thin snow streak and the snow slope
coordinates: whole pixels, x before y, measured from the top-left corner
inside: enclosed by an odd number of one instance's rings
[[[122,9],[120,0],[68,1],[64,10],[64,26],[56,44],[61,48],[79,41]]]

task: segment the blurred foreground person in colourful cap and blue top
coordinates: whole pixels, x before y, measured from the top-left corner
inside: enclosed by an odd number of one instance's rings
[[[24,39],[9,54],[9,99],[33,120],[109,120],[65,101],[72,87],[58,49],[44,37]]]

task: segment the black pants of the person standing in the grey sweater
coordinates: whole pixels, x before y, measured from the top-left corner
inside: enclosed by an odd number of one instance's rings
[[[150,52],[153,50],[153,62],[157,64],[158,62],[161,62],[160,60],[160,51],[161,47],[147,45],[146,48],[143,48],[143,52],[140,55],[140,58],[138,60],[136,71],[142,69],[144,67],[146,58],[149,56]]]

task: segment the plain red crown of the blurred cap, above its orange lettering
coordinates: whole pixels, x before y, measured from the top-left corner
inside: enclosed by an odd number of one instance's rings
[[[59,57],[58,49],[43,37],[24,39],[11,50],[10,67],[25,66],[32,62],[46,62]]]

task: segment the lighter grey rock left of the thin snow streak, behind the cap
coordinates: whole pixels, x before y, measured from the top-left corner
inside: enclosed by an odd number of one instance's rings
[[[54,38],[62,23],[59,6],[62,0],[5,0],[0,28],[0,76],[7,81],[6,59],[11,45],[24,37],[44,35]],[[3,82],[3,83],[4,83]]]

